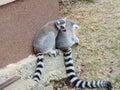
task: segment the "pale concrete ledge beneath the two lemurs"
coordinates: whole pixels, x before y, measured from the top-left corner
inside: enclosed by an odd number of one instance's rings
[[[30,55],[17,63],[9,64],[5,68],[0,69],[0,83],[12,76],[21,76],[20,80],[11,84],[4,90],[31,90],[33,87],[36,87],[36,82],[31,80],[35,71],[35,61],[36,57],[34,55]],[[49,57],[45,55],[44,63],[42,80],[37,86],[39,89],[40,87],[44,87],[42,85],[48,84],[50,80],[59,80],[66,77],[62,53],[57,57]]]

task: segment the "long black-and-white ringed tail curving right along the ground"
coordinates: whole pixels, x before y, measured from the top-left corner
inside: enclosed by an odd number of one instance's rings
[[[105,81],[105,80],[83,81],[83,80],[80,80],[75,74],[71,48],[66,51],[63,51],[63,53],[64,53],[67,78],[70,80],[71,84],[73,84],[77,88],[91,88],[91,89],[106,88],[108,90],[112,90],[112,85],[109,81]]]

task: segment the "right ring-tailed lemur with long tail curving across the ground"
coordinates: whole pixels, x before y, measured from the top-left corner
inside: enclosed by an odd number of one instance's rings
[[[70,80],[70,83],[78,88],[106,88],[108,90],[112,90],[112,85],[109,81],[83,81],[77,77],[75,73],[75,68],[73,66],[71,47],[74,44],[79,43],[79,39],[75,35],[75,30],[78,28],[78,25],[67,19],[65,27],[66,32],[58,33],[56,39],[56,47],[63,50],[66,74],[67,78]]]

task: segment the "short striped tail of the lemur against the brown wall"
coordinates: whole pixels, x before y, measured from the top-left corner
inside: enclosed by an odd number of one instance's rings
[[[42,70],[43,70],[43,66],[44,66],[43,54],[38,53],[38,54],[36,54],[36,57],[37,57],[37,62],[36,62],[37,66],[35,69],[35,73],[33,75],[33,80],[36,82],[40,82],[40,76],[42,74]]]

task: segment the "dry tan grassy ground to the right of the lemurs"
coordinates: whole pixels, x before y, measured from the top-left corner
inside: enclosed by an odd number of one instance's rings
[[[77,75],[83,80],[110,80],[113,90],[120,90],[120,0],[63,1],[61,15],[80,26],[80,45],[73,48]],[[54,89],[79,90],[65,80],[55,81]]]

